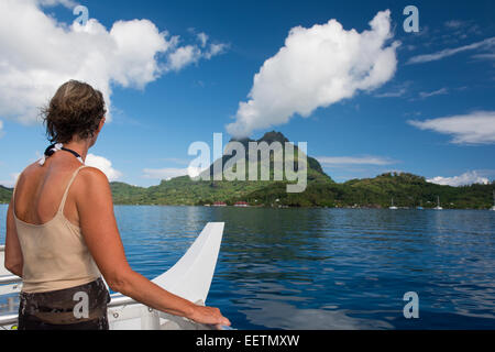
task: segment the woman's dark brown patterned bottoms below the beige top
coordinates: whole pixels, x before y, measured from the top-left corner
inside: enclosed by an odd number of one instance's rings
[[[48,293],[21,293],[19,330],[108,330],[108,302],[101,278]]]

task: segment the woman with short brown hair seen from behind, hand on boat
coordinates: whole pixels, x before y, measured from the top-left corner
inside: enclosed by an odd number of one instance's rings
[[[154,309],[230,324],[219,309],[175,296],[129,266],[108,179],[84,165],[105,124],[101,92],[70,80],[43,114],[56,144],[20,175],[7,217],[4,265],[23,278],[19,329],[107,330],[101,274],[111,289]]]

